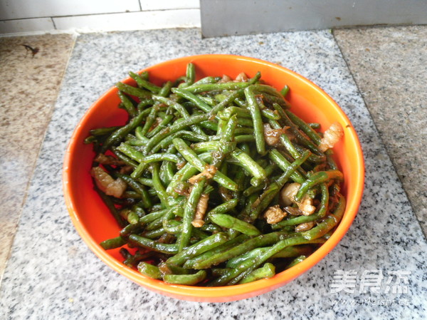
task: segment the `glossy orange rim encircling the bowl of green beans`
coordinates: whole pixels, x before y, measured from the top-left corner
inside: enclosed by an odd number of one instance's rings
[[[141,71],[150,71],[150,69],[158,68],[159,66],[171,64],[171,63],[179,63],[179,62],[191,62],[196,61],[198,59],[204,59],[206,61],[212,61],[218,58],[222,59],[237,59],[239,61],[247,61],[249,63],[258,63],[262,64],[264,66],[268,66],[270,68],[279,69],[280,71],[285,71],[285,73],[289,73],[291,76],[298,78],[300,81],[306,83],[312,90],[317,91],[318,94],[320,94],[323,98],[329,101],[335,109],[337,109],[337,113],[339,113],[339,116],[344,120],[346,123],[350,124],[349,131],[346,132],[346,135],[350,135],[350,138],[352,139],[353,144],[356,146],[356,154],[357,154],[357,176],[359,179],[355,180],[355,195],[352,202],[347,202],[347,206],[344,212],[344,217],[342,218],[341,222],[339,223],[337,229],[335,229],[334,233],[330,237],[330,239],[327,239],[325,244],[322,244],[322,246],[317,249],[315,252],[313,252],[307,259],[300,262],[299,264],[295,265],[294,267],[291,267],[290,269],[287,269],[283,272],[280,272],[275,275],[275,277],[270,279],[262,279],[258,280],[256,282],[251,282],[248,284],[236,284],[229,287],[192,287],[192,286],[185,286],[185,285],[176,285],[176,284],[166,284],[161,280],[154,280],[150,279],[148,277],[143,276],[142,274],[139,274],[133,269],[130,269],[126,267],[121,262],[118,262],[115,258],[111,257],[110,254],[107,253],[102,247],[100,247],[100,244],[95,242],[95,240],[90,236],[90,233],[88,232],[88,229],[84,227],[83,224],[80,223],[79,217],[75,211],[74,205],[73,205],[73,192],[70,190],[70,164],[73,158],[73,152],[75,148],[77,148],[77,138],[76,136],[80,132],[80,128],[84,125],[86,121],[88,121],[88,118],[90,118],[91,113],[93,112],[93,108],[95,105],[102,103],[102,101],[106,100],[110,94],[117,91],[117,88],[112,86],[110,89],[108,89],[105,93],[100,96],[100,98],[97,98],[95,102],[90,105],[90,108],[85,111],[85,114],[78,122],[78,125],[76,125],[75,129],[73,130],[73,134],[68,142],[68,147],[65,152],[65,158],[63,162],[63,192],[65,197],[65,205],[68,209],[70,219],[74,224],[75,229],[77,230],[78,234],[80,234],[80,237],[83,238],[83,241],[88,245],[88,247],[99,257],[102,262],[107,264],[107,266],[114,269],[119,274],[124,275],[128,279],[132,280],[132,282],[135,282],[142,287],[145,287],[147,289],[150,289],[152,291],[155,291],[159,294],[164,294],[166,296],[171,296],[177,299],[184,299],[189,301],[205,301],[205,302],[223,302],[223,301],[236,301],[240,299],[247,299],[252,296],[257,296],[259,294],[263,294],[268,291],[272,291],[274,289],[277,289],[278,287],[282,287],[287,282],[292,281],[296,277],[299,277],[304,272],[307,272],[307,270],[311,269],[312,267],[317,264],[317,262],[320,262],[334,247],[339,243],[339,241],[344,237],[344,234],[346,234],[347,230],[349,229],[350,225],[352,224],[354,217],[357,215],[357,211],[359,210],[359,205],[362,200],[362,194],[364,190],[364,157],[362,153],[362,146],[360,145],[358,135],[356,131],[354,130],[354,127],[347,117],[347,115],[344,113],[344,111],[339,107],[339,105],[329,96],[325,91],[322,90],[319,86],[317,86],[312,81],[308,80],[307,78],[301,76],[300,74],[296,73],[295,71],[291,71],[288,68],[285,68],[283,66],[279,66],[275,63],[271,63],[268,61],[263,61],[258,58],[250,58],[246,56],[237,56],[237,55],[231,55],[231,54],[202,54],[202,55],[196,55],[196,56],[183,56],[181,58],[175,58],[168,61],[164,61],[161,63],[157,63],[153,66],[149,66],[147,68],[142,69]],[[139,71],[140,72],[140,71]],[[131,81],[130,77],[124,79],[123,81]]]

